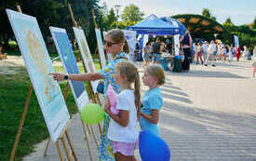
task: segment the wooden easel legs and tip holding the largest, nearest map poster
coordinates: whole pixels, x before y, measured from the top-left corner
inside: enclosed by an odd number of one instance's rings
[[[19,5],[17,5],[17,9],[20,13],[21,12],[21,8]],[[30,102],[30,99],[31,99],[31,95],[32,95],[32,91],[33,91],[33,85],[31,84],[30,85],[30,89],[29,89],[29,92],[28,92],[28,96],[27,96],[27,99],[26,99],[26,103],[25,103],[25,107],[24,107],[24,111],[22,113],[22,116],[21,116],[21,119],[20,119],[20,125],[19,125],[19,129],[18,129],[18,132],[17,132],[17,135],[16,135],[16,139],[15,139],[15,142],[14,142],[14,145],[13,145],[13,148],[12,148],[12,151],[11,151],[11,155],[10,155],[10,159],[9,161],[13,161],[14,159],[14,156],[15,156],[15,152],[16,152],[16,149],[17,149],[17,146],[18,146],[18,143],[19,143],[19,140],[20,140],[20,134],[21,134],[21,129],[23,127],[23,124],[24,124],[24,121],[25,121],[25,118],[26,118],[26,115],[27,115],[27,111],[28,111],[28,107],[29,107],[29,102]],[[60,142],[62,142],[62,145],[63,145],[63,149],[64,149],[64,152],[66,154],[66,157],[68,159],[68,161],[71,161],[72,160],[72,155],[74,156],[74,160],[77,161],[77,156],[76,154],[74,153],[74,148],[73,148],[73,145],[72,145],[72,142],[70,140],[70,136],[67,132],[67,127],[69,125],[69,122],[66,124],[66,126],[63,128],[62,132],[61,132],[61,135],[59,137],[59,139],[55,142],[55,145],[57,147],[57,150],[58,150],[58,154],[60,156],[60,160],[61,161],[64,161],[63,159],[63,155],[61,154],[61,146],[60,146]],[[65,135],[64,135],[65,134]],[[68,144],[70,146],[70,149],[71,149],[71,153],[69,154],[68,153],[68,150],[67,150],[67,146],[66,146],[66,143],[65,143],[65,140],[64,140],[64,136],[66,137],[67,141],[68,141]]]

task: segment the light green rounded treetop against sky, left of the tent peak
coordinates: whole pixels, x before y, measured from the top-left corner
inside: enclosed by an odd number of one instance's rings
[[[131,4],[128,7],[125,7],[123,14],[121,15],[121,19],[123,21],[135,21],[138,22],[142,20],[144,13],[140,11],[139,7]]]

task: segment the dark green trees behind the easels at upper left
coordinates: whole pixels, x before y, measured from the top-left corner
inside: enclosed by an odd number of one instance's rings
[[[0,43],[4,44],[4,49],[9,49],[8,40],[14,38],[9,21],[7,20],[6,8],[17,10],[16,4],[24,14],[34,16],[40,26],[41,32],[48,40],[50,37],[49,26],[61,27],[67,30],[70,40],[74,43],[74,26],[68,10],[68,2],[74,12],[74,19],[82,27],[87,36],[90,51],[94,53],[97,46],[92,20],[91,9],[94,9],[98,28],[103,29],[103,14],[98,6],[99,0],[1,0],[0,2]],[[49,41],[46,41],[47,46]]]

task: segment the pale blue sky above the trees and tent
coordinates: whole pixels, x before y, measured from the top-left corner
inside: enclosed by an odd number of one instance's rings
[[[203,8],[209,8],[212,16],[223,23],[230,18],[235,25],[249,24],[256,17],[256,0],[101,0],[108,9],[121,5],[122,10],[134,4],[145,14],[144,18],[155,14],[157,17],[177,14],[201,14]]]

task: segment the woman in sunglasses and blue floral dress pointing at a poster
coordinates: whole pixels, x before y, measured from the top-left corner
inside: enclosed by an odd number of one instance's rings
[[[62,80],[75,80],[75,81],[91,81],[97,79],[104,79],[104,93],[109,84],[115,89],[115,92],[120,91],[120,87],[115,83],[115,65],[116,63],[128,60],[127,53],[123,52],[125,46],[126,38],[125,34],[121,30],[111,30],[106,34],[104,40],[104,48],[108,53],[111,53],[113,60],[109,64],[101,69],[98,73],[92,74],[52,74],[53,78],[57,81]],[[107,132],[110,122],[110,116],[105,115],[103,133],[101,135],[101,143],[99,145],[99,159],[100,161],[115,161],[113,154],[113,144],[112,141],[108,140]]]

